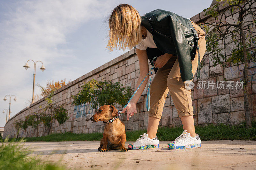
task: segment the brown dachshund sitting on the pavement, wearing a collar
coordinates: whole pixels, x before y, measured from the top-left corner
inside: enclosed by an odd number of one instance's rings
[[[103,137],[100,140],[98,151],[106,152],[107,150],[128,151],[124,143],[126,141],[125,125],[122,121],[116,118],[113,122],[111,119],[118,115],[118,111],[114,106],[101,106],[95,115],[90,119],[93,122],[103,121],[105,123]]]

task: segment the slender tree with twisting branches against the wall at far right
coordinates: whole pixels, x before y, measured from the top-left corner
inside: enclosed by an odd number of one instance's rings
[[[220,2],[220,1],[219,1]],[[221,9],[220,3],[205,9],[205,15],[211,15],[216,19],[216,23],[204,23],[206,32],[207,51],[212,53],[212,62],[214,66],[238,65],[244,63],[243,81],[244,81],[244,113],[246,128],[252,127],[252,118],[249,100],[249,62],[256,61],[256,38],[252,36],[256,26],[256,1],[255,0],[227,0],[223,3]],[[221,10],[219,10],[221,9]],[[225,16],[231,13],[229,20]],[[222,54],[227,44],[234,43],[235,48],[231,49],[231,55]]]

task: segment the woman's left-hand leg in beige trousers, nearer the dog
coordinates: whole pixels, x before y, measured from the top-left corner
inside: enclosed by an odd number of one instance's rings
[[[172,69],[176,56],[172,56],[170,60],[156,72],[154,79],[150,85],[150,109],[148,114],[148,130],[149,138],[155,138],[161,119],[166,96],[169,92],[167,88],[167,77]]]

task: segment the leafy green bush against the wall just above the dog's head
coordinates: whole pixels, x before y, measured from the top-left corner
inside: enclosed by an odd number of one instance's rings
[[[81,105],[91,103],[92,108],[97,108],[102,105],[117,104],[124,106],[132,96],[133,90],[131,87],[124,87],[119,82],[113,83],[109,80],[96,81],[91,80],[82,86],[74,98],[73,104]]]

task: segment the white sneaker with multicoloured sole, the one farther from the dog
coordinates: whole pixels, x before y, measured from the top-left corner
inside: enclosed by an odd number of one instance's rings
[[[187,130],[184,130],[182,134],[177,137],[172,143],[168,144],[168,149],[188,149],[188,148],[200,148],[201,139],[198,134],[196,137],[191,137]]]

